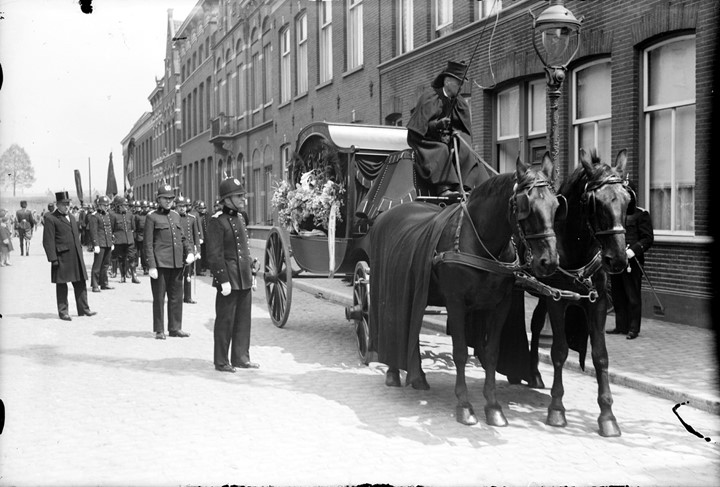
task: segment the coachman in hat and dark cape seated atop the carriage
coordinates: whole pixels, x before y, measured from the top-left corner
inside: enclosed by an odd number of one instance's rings
[[[472,139],[470,106],[460,95],[466,65],[449,61],[447,68],[425,90],[415,106],[408,128],[408,145],[415,151],[418,174],[440,196],[458,194],[460,179],[453,147],[457,146],[462,184],[473,189],[488,178],[485,167],[469,148]],[[460,137],[457,141],[453,137]]]

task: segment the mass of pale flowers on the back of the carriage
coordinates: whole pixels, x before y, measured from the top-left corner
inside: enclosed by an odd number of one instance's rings
[[[294,188],[286,181],[277,183],[272,207],[278,212],[280,224],[293,228],[296,233],[312,228],[327,231],[331,220],[332,223],[342,221],[339,210],[344,192],[341,184],[314,169],[302,174]]]

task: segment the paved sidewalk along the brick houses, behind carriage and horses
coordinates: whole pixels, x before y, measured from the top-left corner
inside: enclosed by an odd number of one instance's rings
[[[253,254],[261,259],[264,241],[251,242]],[[352,287],[342,279],[294,279],[293,287],[336,303],[352,304]],[[535,308],[536,298],[526,295],[525,322]],[[445,332],[444,316],[426,316],[424,327]],[[615,316],[608,315],[606,328],[615,327]],[[528,335],[529,336],[529,335]],[[668,323],[643,318],[640,336],[635,340],[625,335],[606,335],[610,359],[610,381],[638,389],[676,403],[689,401],[693,407],[720,414],[718,391],[718,364],[715,352],[714,331],[680,323]],[[549,324],[540,339],[540,360],[552,364],[550,346],[552,336]],[[584,373],[595,377],[590,357],[590,347],[585,360]],[[566,370],[583,372],[578,355],[570,352],[565,363]],[[552,376],[544,376],[546,387],[552,386]]]

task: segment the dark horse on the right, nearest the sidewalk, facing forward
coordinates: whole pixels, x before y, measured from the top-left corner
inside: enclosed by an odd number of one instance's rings
[[[546,313],[549,313],[555,375],[547,424],[567,425],[562,402],[562,369],[568,356],[568,342],[580,353],[580,363],[584,368],[589,334],[598,382],[600,434],[620,436],[620,428],[612,412],[605,320],[608,306],[607,273],[622,272],[627,267],[623,227],[630,203],[630,194],[623,179],[627,151],[620,151],[612,166],[608,166],[600,161],[594,150],[588,157],[581,149],[580,162],[582,165],[560,188],[560,194],[567,199],[568,207],[567,218],[555,222],[560,267],[549,279],[541,279],[556,288],[569,291],[564,295],[568,297],[559,300],[555,299],[557,296],[541,297],[533,312],[530,355],[534,380],[531,385],[544,387],[537,369],[538,341]]]

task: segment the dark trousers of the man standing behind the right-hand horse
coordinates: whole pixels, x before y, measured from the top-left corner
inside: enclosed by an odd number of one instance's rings
[[[636,259],[630,259],[630,271],[612,274],[615,328],[623,333],[640,333],[642,316],[642,271]]]

